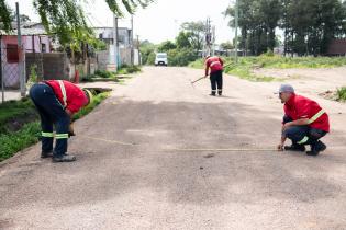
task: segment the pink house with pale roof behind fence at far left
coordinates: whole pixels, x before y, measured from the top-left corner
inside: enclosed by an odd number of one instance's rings
[[[0,60],[5,88],[18,89],[20,85],[20,65],[25,60],[25,53],[51,53],[51,39],[40,23],[21,27],[22,49],[18,47],[18,31],[0,31]],[[24,66],[24,65],[23,65]]]

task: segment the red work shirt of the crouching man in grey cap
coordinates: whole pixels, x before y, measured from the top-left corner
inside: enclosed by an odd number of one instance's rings
[[[293,94],[291,99],[284,103],[284,114],[293,120],[314,117],[319,112],[322,111],[321,106],[304,96]],[[310,124],[310,127],[330,131],[330,118],[326,113],[323,113],[316,120]]]

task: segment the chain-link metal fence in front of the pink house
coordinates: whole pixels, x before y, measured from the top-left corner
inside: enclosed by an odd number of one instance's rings
[[[1,101],[25,96],[25,51],[16,44],[4,44],[0,39]]]

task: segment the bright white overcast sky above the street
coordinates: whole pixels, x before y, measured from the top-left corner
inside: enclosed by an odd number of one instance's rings
[[[20,3],[21,14],[29,15],[32,21],[40,21],[32,7],[32,0],[7,0],[11,8]],[[88,0],[85,5],[87,19],[91,26],[112,26],[113,18],[105,0]],[[222,12],[233,0],[155,0],[146,9],[138,9],[134,15],[134,34],[139,39],[148,39],[158,44],[174,39],[183,22],[205,21],[211,18],[216,27],[216,43],[232,41],[234,30],[227,26],[228,19]],[[130,14],[119,21],[119,26],[130,27]]]

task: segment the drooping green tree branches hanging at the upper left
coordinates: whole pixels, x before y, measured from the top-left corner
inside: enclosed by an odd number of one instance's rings
[[[32,0],[34,9],[40,14],[46,31],[56,35],[59,43],[65,46],[70,43],[90,43],[93,33],[89,28],[81,1],[76,0]],[[83,0],[88,2],[90,0]],[[134,13],[137,7],[145,8],[153,0],[105,0],[110,10],[118,16],[123,16],[121,5],[129,13]],[[5,31],[11,30],[11,9],[4,0],[0,0],[0,21]]]

